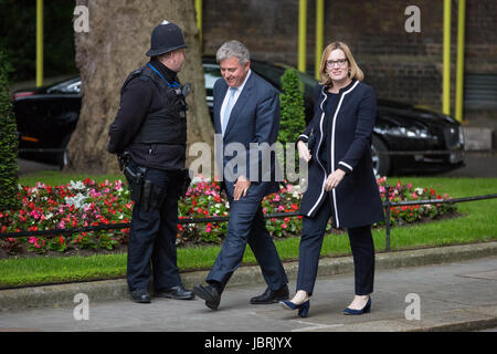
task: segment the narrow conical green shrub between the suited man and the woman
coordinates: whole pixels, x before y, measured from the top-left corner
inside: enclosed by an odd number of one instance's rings
[[[287,69],[282,75],[278,142],[285,145],[294,143],[306,127],[306,114],[304,108],[303,84],[295,69]]]

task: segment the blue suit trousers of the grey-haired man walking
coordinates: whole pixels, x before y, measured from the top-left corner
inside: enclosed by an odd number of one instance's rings
[[[221,251],[205,281],[223,290],[233,272],[242,263],[248,243],[257,260],[264,280],[273,291],[288,283],[276,247],[266,229],[261,201],[230,201],[230,221]]]

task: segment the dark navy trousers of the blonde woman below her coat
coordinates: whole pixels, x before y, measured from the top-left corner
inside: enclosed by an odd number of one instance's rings
[[[303,219],[297,291],[304,290],[309,295],[313,294],[326,225],[331,215],[331,202],[326,198],[314,218]],[[368,295],[373,292],[374,282],[374,243],[371,226],[350,228],[347,232],[353,257],[355,291],[357,295]]]

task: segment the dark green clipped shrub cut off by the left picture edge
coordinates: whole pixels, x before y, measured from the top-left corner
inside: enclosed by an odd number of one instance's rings
[[[0,49],[0,210],[17,209],[18,194],[18,136],[12,113],[8,74],[11,71]]]

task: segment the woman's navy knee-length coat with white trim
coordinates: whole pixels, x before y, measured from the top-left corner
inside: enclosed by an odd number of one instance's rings
[[[300,215],[313,218],[325,198],[330,198],[336,227],[379,222],[384,214],[371,162],[371,134],[377,116],[374,90],[353,80],[339,91],[337,108],[330,116],[326,114],[327,90],[317,85],[314,118],[297,138],[307,143],[313,134],[315,140]],[[326,144],[327,140],[330,143]],[[328,164],[319,160],[321,149],[326,149]],[[346,171],[346,176],[337,188],[326,191],[326,178],[337,168]]]

